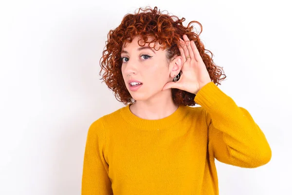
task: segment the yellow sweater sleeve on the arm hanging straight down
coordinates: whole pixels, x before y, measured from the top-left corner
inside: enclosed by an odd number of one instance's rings
[[[112,195],[108,176],[109,165],[105,160],[106,133],[102,118],[94,121],[87,134],[81,195]]]

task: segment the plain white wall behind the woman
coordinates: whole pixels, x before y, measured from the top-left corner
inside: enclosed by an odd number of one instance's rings
[[[220,195],[291,191],[288,0],[10,0],[0,2],[1,195],[80,194],[88,128],[124,106],[99,80],[107,34],[146,5],[201,22],[227,75],[220,89],[271,145],[271,161],[256,169],[217,161]]]

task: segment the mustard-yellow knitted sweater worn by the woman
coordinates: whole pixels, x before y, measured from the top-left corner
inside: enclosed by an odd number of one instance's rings
[[[218,195],[215,158],[246,168],[271,148],[250,113],[210,82],[158,120],[125,106],[94,121],[85,147],[82,195]]]

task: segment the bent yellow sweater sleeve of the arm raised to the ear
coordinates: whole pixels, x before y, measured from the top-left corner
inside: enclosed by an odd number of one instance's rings
[[[205,110],[208,149],[217,160],[245,168],[259,167],[270,161],[271,148],[253,117],[214,82],[199,90],[195,102]]]

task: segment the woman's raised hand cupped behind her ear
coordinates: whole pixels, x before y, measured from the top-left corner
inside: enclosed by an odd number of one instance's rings
[[[185,60],[182,66],[181,78],[177,82],[166,83],[163,90],[177,88],[197,94],[205,84],[211,82],[211,78],[195,42],[190,41],[186,35],[183,35],[183,39],[181,39],[183,48],[179,47],[181,56]],[[186,57],[188,58],[186,59]]]

